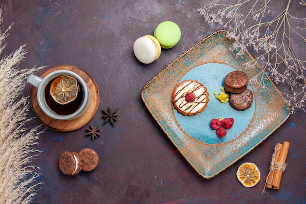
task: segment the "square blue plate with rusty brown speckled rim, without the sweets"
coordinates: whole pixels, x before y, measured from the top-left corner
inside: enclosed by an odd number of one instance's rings
[[[249,53],[236,57],[230,50],[234,40],[219,31],[178,57],[148,83],[141,92],[146,107],[180,153],[204,178],[211,178],[235,163],[271,135],[290,115],[281,92],[255,64],[246,69],[244,63],[254,60]],[[220,92],[224,77],[233,70],[244,71],[249,79],[259,77],[267,91],[258,91],[250,80],[253,92],[251,108],[235,111],[228,103],[220,103],[214,92]],[[172,91],[183,80],[197,80],[207,88],[208,106],[202,113],[185,116],[178,113],[171,101]],[[213,118],[233,117],[234,126],[219,138],[209,127]]]

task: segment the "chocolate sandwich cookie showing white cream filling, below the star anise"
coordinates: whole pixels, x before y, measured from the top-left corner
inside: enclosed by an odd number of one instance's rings
[[[82,168],[81,158],[76,152],[63,152],[60,155],[59,166],[66,175],[77,175]]]

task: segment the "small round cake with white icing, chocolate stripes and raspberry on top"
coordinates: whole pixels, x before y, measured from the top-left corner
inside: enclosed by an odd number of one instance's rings
[[[179,113],[195,115],[207,107],[208,95],[206,87],[198,81],[185,80],[173,90],[172,102]]]

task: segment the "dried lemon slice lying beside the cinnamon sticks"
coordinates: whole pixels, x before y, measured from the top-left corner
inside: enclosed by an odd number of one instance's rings
[[[261,179],[261,173],[254,163],[246,162],[237,170],[237,178],[245,187],[253,187]]]

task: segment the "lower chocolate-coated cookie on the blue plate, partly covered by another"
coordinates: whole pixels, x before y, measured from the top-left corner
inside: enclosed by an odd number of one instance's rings
[[[246,89],[241,93],[231,93],[229,96],[229,104],[237,111],[244,111],[251,107],[253,103],[253,93]]]

